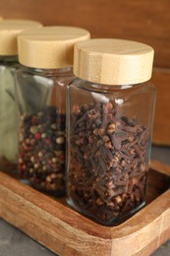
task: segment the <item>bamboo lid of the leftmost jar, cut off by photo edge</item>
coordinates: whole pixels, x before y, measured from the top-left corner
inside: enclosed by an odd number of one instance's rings
[[[17,35],[31,28],[42,27],[35,21],[3,20],[0,22],[0,55],[17,55]]]

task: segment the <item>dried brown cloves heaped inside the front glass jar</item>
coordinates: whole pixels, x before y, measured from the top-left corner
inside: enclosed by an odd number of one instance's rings
[[[111,100],[73,105],[68,189],[80,212],[112,224],[142,205],[148,139]]]

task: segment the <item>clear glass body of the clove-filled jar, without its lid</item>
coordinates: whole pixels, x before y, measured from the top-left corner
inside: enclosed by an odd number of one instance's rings
[[[150,83],[68,87],[68,204],[120,224],[145,204],[156,90]]]

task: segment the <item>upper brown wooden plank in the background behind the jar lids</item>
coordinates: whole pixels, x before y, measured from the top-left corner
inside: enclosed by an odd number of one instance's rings
[[[155,66],[170,67],[169,0],[0,0],[4,18],[25,18],[44,25],[85,28],[92,37],[139,40],[155,49]]]

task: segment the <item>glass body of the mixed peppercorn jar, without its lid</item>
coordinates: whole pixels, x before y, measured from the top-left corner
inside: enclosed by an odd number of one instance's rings
[[[72,79],[72,68],[17,72],[19,177],[56,196],[65,193],[65,96]]]

